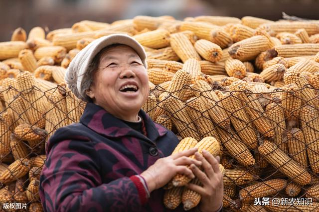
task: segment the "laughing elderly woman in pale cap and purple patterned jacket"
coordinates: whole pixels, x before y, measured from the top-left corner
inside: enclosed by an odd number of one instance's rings
[[[79,123],[49,139],[40,178],[45,211],[170,211],[162,187],[177,173],[203,185],[187,185],[202,196],[193,211],[221,210],[219,158],[196,149],[171,156],[177,137],[141,109],[149,95],[146,70],[144,48],[121,34],[93,41],[73,59],[66,82],[88,104]]]

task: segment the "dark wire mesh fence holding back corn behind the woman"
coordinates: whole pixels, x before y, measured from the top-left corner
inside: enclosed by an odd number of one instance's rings
[[[42,210],[45,143],[59,127],[78,122],[85,107],[63,83],[45,92],[24,85],[2,84],[0,91],[4,211]],[[225,211],[319,211],[318,89],[266,85],[197,81],[174,92],[156,86],[142,108],[180,139],[218,140]]]

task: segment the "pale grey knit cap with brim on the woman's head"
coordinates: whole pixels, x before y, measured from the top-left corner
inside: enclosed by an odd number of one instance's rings
[[[123,44],[133,48],[138,53],[144,67],[147,69],[145,50],[133,37],[125,34],[113,34],[96,39],[73,58],[66,70],[65,82],[77,98],[85,101],[85,91],[81,91],[83,76],[95,55],[97,55],[104,47],[112,44]]]

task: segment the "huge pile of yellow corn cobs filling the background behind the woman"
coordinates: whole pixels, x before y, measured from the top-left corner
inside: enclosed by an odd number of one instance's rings
[[[66,87],[65,68],[113,33],[132,35],[147,51],[151,90],[143,109],[153,120],[180,139],[219,143],[225,210],[319,211],[319,21],[249,16],[85,20],[47,34],[16,29],[0,43],[1,206],[42,210],[45,142],[78,122],[85,107]],[[180,204],[181,192],[171,192]],[[253,206],[258,197],[314,203]]]

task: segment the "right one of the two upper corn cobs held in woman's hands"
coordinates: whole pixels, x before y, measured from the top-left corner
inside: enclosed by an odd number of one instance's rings
[[[196,143],[194,147],[197,148],[200,154],[202,154],[202,150],[204,149],[210,154],[212,154],[214,157],[219,155],[219,150],[220,150],[219,144],[216,138],[214,137],[204,137],[198,143]],[[190,158],[194,159],[195,156],[192,155],[190,156]],[[189,183],[189,181],[191,181],[191,179],[188,178],[187,176],[182,174],[177,174],[175,177],[173,177],[172,184],[173,186],[184,186],[187,183]]]

